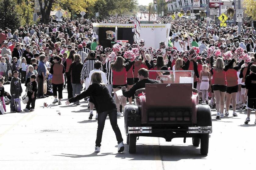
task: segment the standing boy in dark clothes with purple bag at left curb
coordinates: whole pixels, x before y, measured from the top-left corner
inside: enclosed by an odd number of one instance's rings
[[[11,92],[11,112],[16,112],[17,110],[15,109],[14,106],[14,99],[20,98],[21,93],[22,93],[22,87],[21,87],[21,82],[19,77],[19,72],[14,71],[13,72],[13,77],[11,80],[11,87],[10,87],[10,92]]]

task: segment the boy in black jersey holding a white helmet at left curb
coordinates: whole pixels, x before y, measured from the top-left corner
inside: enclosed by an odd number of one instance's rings
[[[27,81],[25,83],[27,96],[28,96],[28,102],[27,106],[24,111],[34,111],[35,109],[35,102],[36,102],[36,96],[37,96],[37,82],[36,82],[36,75],[32,74],[30,77],[27,78]],[[31,107],[30,107],[31,104]]]

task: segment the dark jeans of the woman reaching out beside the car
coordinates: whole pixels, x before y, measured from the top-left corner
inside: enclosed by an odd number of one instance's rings
[[[110,120],[110,124],[112,126],[113,131],[116,134],[116,140],[117,142],[122,142],[123,138],[120,132],[120,129],[118,127],[117,124],[117,110],[116,109],[112,109],[112,110],[108,110],[102,113],[98,114],[98,130],[97,130],[97,138],[96,138],[96,146],[101,146],[101,138],[102,138],[102,132],[104,129],[104,125],[105,125],[105,120],[107,118],[107,115],[109,117]]]

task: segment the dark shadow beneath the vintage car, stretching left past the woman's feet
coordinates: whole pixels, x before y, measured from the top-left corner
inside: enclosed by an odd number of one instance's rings
[[[159,150],[160,147],[160,150]],[[75,154],[61,154],[53,156],[63,156],[69,158],[85,158],[85,157],[98,157],[116,155],[116,158],[131,158],[130,160],[155,160],[161,161],[179,161],[181,159],[203,159],[206,155],[200,154],[200,149],[193,145],[177,146],[177,145],[136,145],[136,154],[129,154],[128,145],[125,144],[125,150],[122,153],[96,153],[93,152],[89,155],[75,155]]]

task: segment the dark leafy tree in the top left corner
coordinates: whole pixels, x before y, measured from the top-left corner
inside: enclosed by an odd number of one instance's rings
[[[24,22],[20,6],[14,0],[0,0],[0,4],[0,28],[19,28]]]

